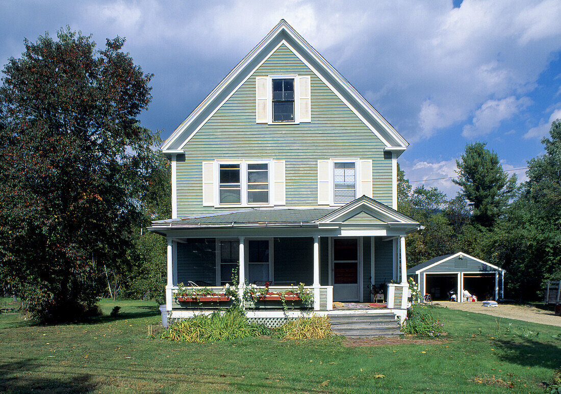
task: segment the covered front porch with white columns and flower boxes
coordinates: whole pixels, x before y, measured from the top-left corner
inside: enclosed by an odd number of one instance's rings
[[[373,286],[387,308],[360,313],[404,317],[404,236],[418,228],[361,197],[341,208],[251,208],[154,222],[149,230],[168,240],[169,317],[238,303],[249,318],[286,319],[329,314],[334,301],[373,302]]]

